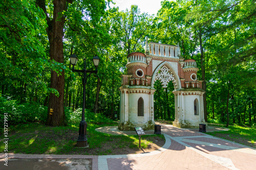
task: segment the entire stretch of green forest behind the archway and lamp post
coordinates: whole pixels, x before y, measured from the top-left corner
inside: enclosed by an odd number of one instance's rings
[[[181,56],[197,61],[208,122],[256,121],[255,0],[164,0],[157,16],[141,13],[136,5],[120,11],[110,3],[1,1],[0,102],[45,106],[42,121],[66,125],[65,110],[82,106],[82,79],[71,71],[69,56],[78,57],[76,69],[86,58],[87,69],[93,70],[91,59],[97,55],[98,75],[88,78],[86,108],[114,119],[126,57],[143,53],[147,37],[179,43]],[[155,89],[155,118],[173,120],[173,84],[163,89],[156,82]]]

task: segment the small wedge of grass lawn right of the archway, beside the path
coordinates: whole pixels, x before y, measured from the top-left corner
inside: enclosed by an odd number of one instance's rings
[[[216,125],[215,125],[216,126]],[[225,127],[224,125],[219,125]],[[244,144],[256,149],[256,128],[243,126],[228,126],[229,131],[207,132],[212,136],[217,136],[226,140]]]

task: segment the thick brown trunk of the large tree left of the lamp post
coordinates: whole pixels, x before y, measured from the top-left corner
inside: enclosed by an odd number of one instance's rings
[[[48,39],[50,43],[50,59],[59,63],[63,63],[63,27],[65,23],[65,16],[61,15],[67,8],[66,0],[54,0],[53,1],[53,18],[50,20],[46,11],[45,0],[36,0],[36,4],[44,10],[47,16],[48,28],[46,29]],[[54,93],[50,93],[48,114],[46,125],[49,126],[63,126],[66,125],[66,117],[64,113],[64,89],[65,79],[64,70],[60,72],[60,75],[55,71],[51,71],[51,88],[58,91],[59,96]],[[52,112],[50,113],[50,110]]]

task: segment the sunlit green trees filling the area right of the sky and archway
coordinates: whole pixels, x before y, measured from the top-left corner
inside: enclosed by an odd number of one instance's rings
[[[179,42],[182,56],[197,61],[198,79],[206,81],[209,122],[255,122],[255,1],[180,0],[161,5],[155,39]]]

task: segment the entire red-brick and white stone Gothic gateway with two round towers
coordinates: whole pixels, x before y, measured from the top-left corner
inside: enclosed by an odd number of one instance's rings
[[[154,128],[156,80],[160,80],[163,87],[167,87],[169,81],[174,83],[173,126],[189,128],[205,123],[204,90],[202,81],[197,80],[196,61],[184,60],[180,55],[179,46],[152,42],[147,44],[146,41],[145,54],[131,53],[127,56],[127,61],[127,75],[122,75],[120,87],[120,130],[134,130],[134,127],[142,127],[145,130]],[[140,108],[139,99],[143,99],[143,108]],[[194,110],[195,100],[197,114]]]

